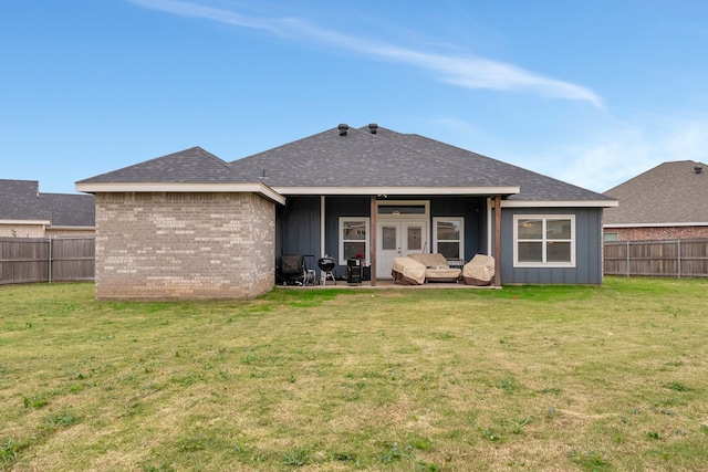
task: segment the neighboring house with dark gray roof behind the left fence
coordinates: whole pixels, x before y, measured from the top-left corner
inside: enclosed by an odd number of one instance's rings
[[[0,179],[0,238],[93,235],[91,195],[43,193],[37,180]]]

